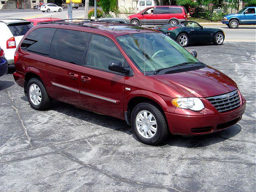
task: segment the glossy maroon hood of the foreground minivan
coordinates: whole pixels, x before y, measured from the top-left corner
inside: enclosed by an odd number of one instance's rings
[[[236,83],[224,73],[207,66],[205,68],[174,74],[154,75],[184,97],[211,97],[237,89]]]

